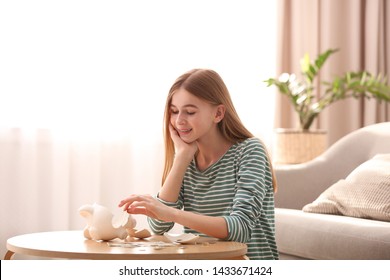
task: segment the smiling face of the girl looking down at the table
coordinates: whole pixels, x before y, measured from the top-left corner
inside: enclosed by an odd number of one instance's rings
[[[223,105],[212,105],[185,89],[180,88],[172,96],[171,125],[186,143],[192,143],[217,129],[223,119]]]

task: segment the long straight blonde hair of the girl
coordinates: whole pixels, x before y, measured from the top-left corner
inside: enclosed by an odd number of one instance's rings
[[[225,106],[225,116],[218,123],[218,129],[222,136],[231,143],[241,142],[245,139],[253,137],[245,126],[242,124],[236,109],[234,108],[229,91],[217,72],[209,69],[193,69],[176,79],[169,90],[164,112],[164,142],[165,142],[165,165],[162,176],[164,184],[169,172],[172,169],[173,159],[175,155],[175,147],[169,133],[170,124],[170,108],[172,96],[178,89],[185,89],[196,97],[209,102],[212,105],[223,104]],[[263,145],[264,146],[264,145]],[[264,146],[265,148],[265,146]],[[268,157],[268,154],[267,154]],[[269,164],[271,165],[270,158]],[[270,166],[273,177],[273,187],[276,192],[276,180],[273,174],[272,166]]]

